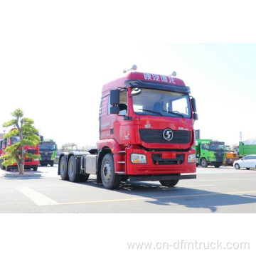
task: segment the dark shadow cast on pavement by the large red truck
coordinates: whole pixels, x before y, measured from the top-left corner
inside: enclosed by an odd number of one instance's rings
[[[106,189],[102,184],[97,184],[94,179],[90,178],[87,183],[81,184],[95,186],[104,190]],[[197,188],[186,188],[186,186],[168,188],[161,186],[161,184],[148,182],[122,182],[119,189],[115,190],[115,192],[133,196],[134,200],[142,200],[146,203],[159,206],[170,207],[179,205],[186,206],[187,208],[200,208],[202,209],[202,213],[206,212],[205,209],[210,210],[211,213],[217,213],[219,206],[236,206],[256,203],[256,196],[248,195],[247,192],[236,194],[231,192],[219,193]],[[127,198],[127,201],[129,201],[129,197]],[[172,212],[171,207],[169,212]],[[198,210],[195,210],[195,213],[198,213]],[[236,212],[234,211],[234,213]]]

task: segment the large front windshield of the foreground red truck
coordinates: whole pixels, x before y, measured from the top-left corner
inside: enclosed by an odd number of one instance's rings
[[[137,91],[138,88],[133,88],[133,92]],[[132,100],[134,112],[137,114],[191,118],[188,94],[142,89],[141,93],[134,93]]]

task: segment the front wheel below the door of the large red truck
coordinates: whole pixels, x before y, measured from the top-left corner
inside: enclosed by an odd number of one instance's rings
[[[114,159],[112,154],[106,154],[102,160],[101,176],[103,186],[107,189],[118,188],[122,176],[114,173]]]

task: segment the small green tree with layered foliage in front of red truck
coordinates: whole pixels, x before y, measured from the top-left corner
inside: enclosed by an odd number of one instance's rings
[[[25,146],[36,146],[40,141],[40,137],[36,135],[38,130],[32,126],[34,123],[32,119],[23,117],[23,111],[21,109],[16,109],[11,115],[14,119],[11,119],[9,122],[3,124],[3,127],[14,127],[10,132],[4,135],[4,139],[9,139],[14,136],[20,138],[19,142],[7,146],[4,150],[7,154],[1,156],[1,159],[4,159],[3,165],[8,166],[17,163],[18,174],[24,174],[25,167],[25,157],[31,159],[39,158],[38,155],[31,153],[26,153]]]

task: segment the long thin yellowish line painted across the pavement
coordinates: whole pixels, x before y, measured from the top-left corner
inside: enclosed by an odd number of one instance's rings
[[[242,193],[256,193],[256,191],[238,191],[238,192],[228,192],[228,193],[217,192],[217,193],[194,194],[194,195],[157,196],[157,197],[151,197],[151,198],[148,198],[148,197],[121,198],[121,199],[97,200],[97,201],[67,202],[67,203],[59,203],[59,205],[82,204],[82,203],[112,203],[112,202],[122,202],[122,201],[155,200],[155,199],[166,199],[166,198],[186,198],[186,197],[193,197],[193,196],[237,195]]]

